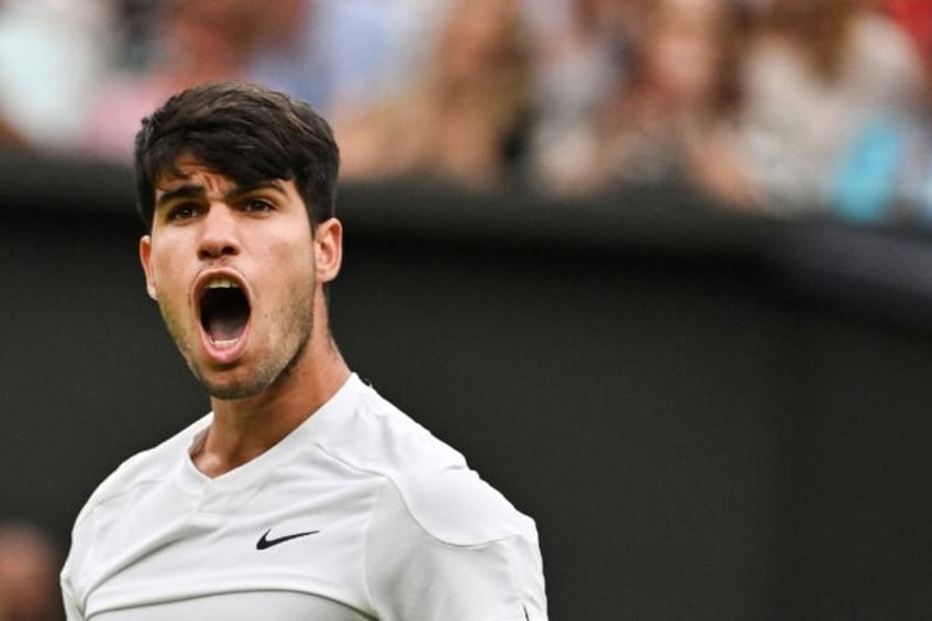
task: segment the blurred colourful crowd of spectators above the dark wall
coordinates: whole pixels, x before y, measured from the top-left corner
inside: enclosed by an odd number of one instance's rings
[[[127,162],[206,80],[334,124],[344,180],[932,223],[930,0],[0,0],[0,143]]]

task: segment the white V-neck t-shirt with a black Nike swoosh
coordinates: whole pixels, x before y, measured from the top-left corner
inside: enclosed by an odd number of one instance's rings
[[[533,520],[355,375],[211,479],[201,419],[122,464],[78,515],[69,621],[543,621]]]

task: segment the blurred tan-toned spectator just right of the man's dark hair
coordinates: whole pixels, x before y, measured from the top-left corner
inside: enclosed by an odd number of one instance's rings
[[[528,48],[517,0],[458,0],[410,89],[337,120],[343,176],[428,175],[500,182],[528,111]]]

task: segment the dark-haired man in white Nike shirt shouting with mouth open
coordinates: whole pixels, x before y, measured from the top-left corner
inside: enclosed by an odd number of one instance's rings
[[[135,162],[147,290],[212,412],[88,500],[68,618],[546,619],[533,521],[331,337],[326,122],[258,87],[196,87],[143,121]]]

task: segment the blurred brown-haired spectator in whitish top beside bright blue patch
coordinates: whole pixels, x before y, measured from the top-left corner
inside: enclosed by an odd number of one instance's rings
[[[772,0],[758,20],[744,66],[742,146],[766,204],[781,214],[858,211],[869,207],[865,190],[883,201],[899,148],[889,123],[909,112],[921,85],[909,41],[870,0]],[[873,155],[863,157],[865,147]]]

